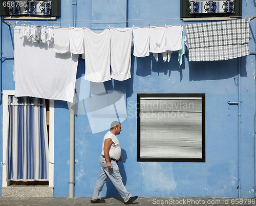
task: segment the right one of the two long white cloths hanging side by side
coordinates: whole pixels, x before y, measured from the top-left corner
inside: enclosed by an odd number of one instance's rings
[[[132,53],[131,28],[111,29],[111,77],[124,81],[131,78],[131,53]]]

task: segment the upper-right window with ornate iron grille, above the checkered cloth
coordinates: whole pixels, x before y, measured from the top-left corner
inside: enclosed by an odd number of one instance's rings
[[[242,16],[242,1],[181,0],[181,18]]]

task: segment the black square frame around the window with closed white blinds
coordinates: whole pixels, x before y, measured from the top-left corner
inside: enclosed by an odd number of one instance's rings
[[[140,98],[141,97],[202,97],[202,158],[140,157]],[[205,94],[137,94],[137,162],[205,162]]]

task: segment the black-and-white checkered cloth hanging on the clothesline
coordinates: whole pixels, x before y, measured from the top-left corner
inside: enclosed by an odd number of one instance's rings
[[[189,61],[219,61],[249,55],[249,20],[186,25]]]

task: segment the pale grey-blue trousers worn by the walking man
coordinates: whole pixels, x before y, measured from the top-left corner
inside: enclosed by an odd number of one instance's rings
[[[108,166],[106,166],[106,161],[105,161],[104,157],[100,156],[99,161],[101,164],[101,169],[100,169],[99,178],[96,181],[96,184],[94,187],[92,199],[100,199],[101,198],[103,185],[110,178],[113,185],[116,187],[117,191],[123,198],[123,200],[124,201],[128,200],[132,195],[131,195],[131,193],[127,192],[126,188],[123,185],[123,180],[120,175],[117,163],[115,161],[111,161],[113,168],[109,169]]]

